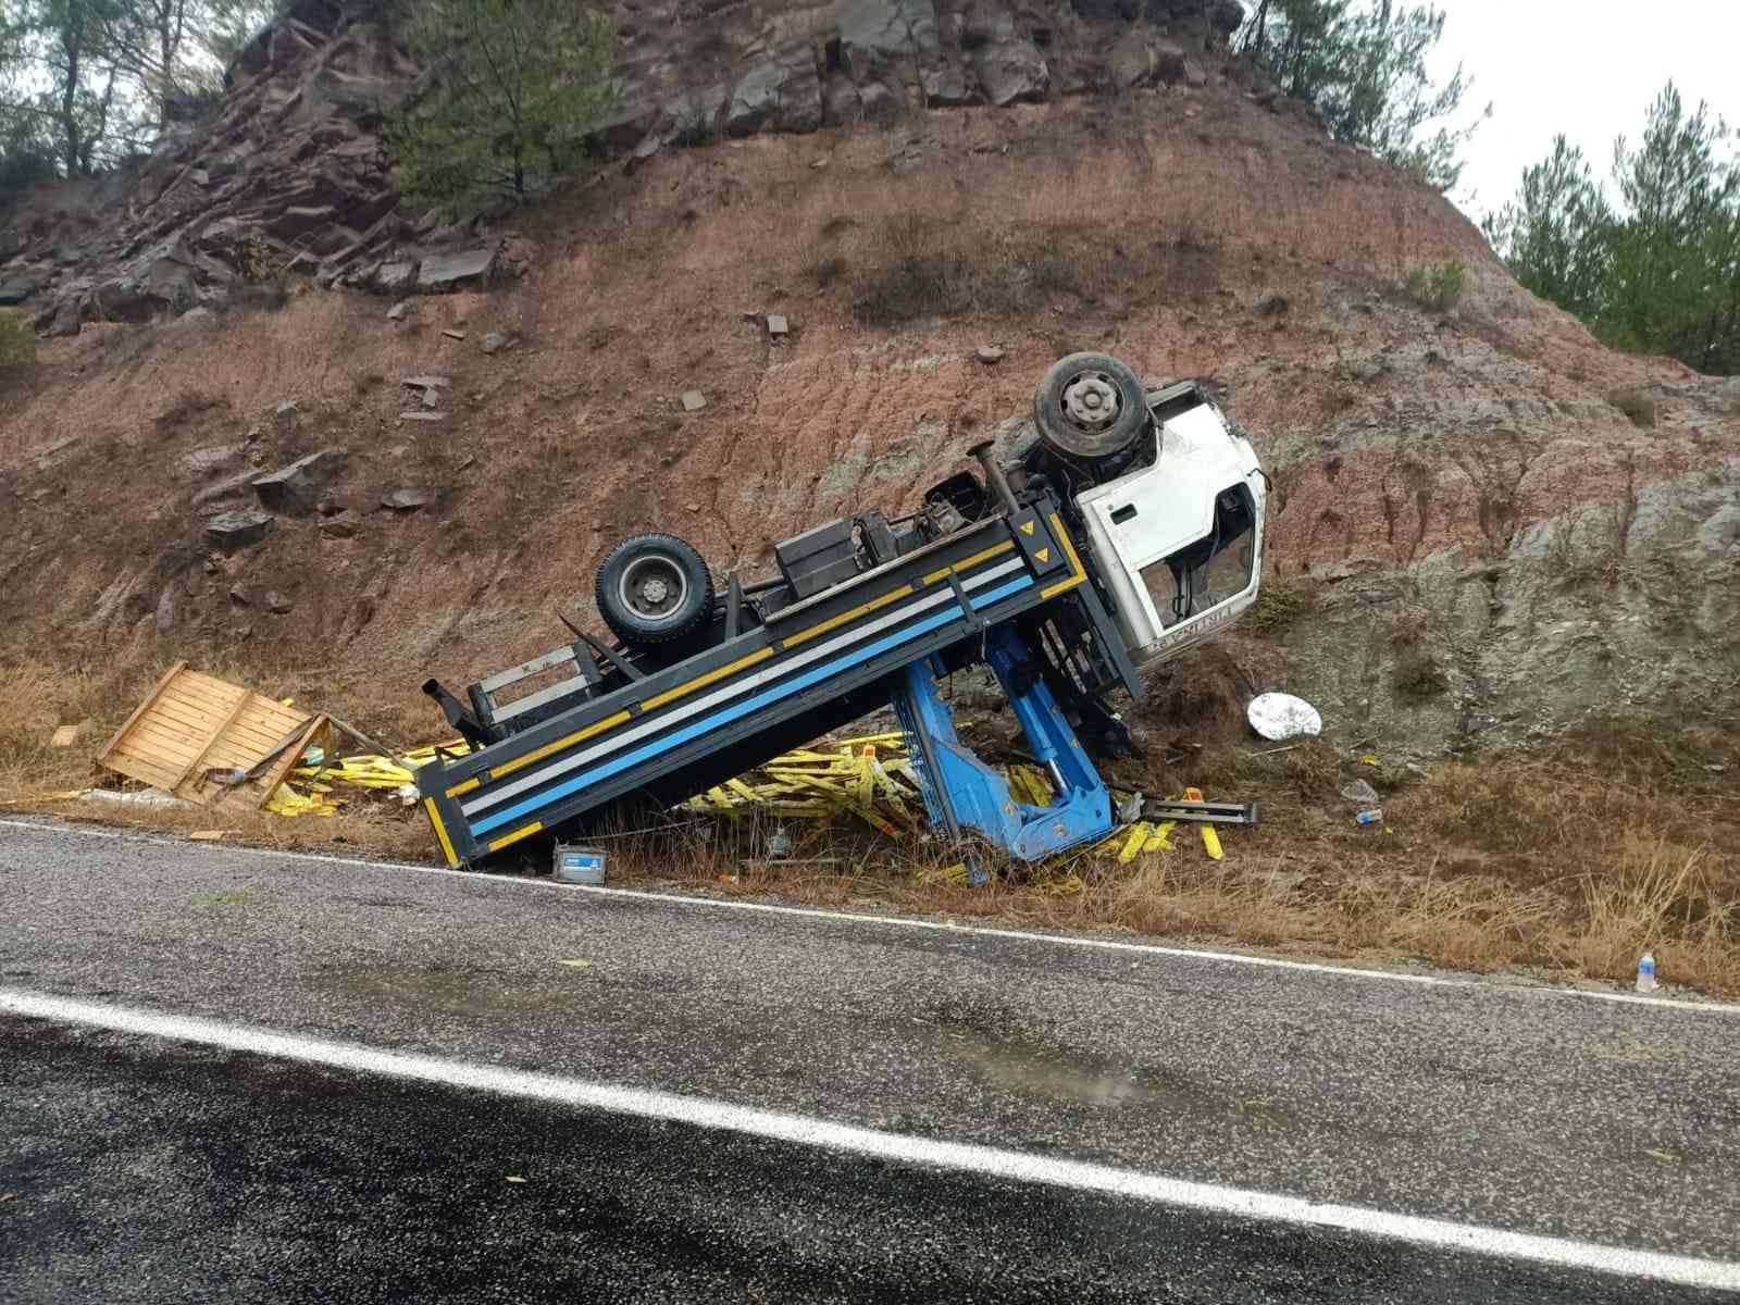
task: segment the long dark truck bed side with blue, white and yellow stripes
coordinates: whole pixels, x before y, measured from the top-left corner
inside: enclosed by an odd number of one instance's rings
[[[451,865],[644,790],[677,802],[887,701],[887,677],[1051,600],[1115,632],[1056,505],[990,517],[673,666],[418,771]],[[1129,672],[1136,691],[1134,672]]]

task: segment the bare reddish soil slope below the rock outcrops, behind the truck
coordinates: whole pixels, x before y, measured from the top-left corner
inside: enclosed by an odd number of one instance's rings
[[[867,325],[867,298],[915,249],[952,270],[947,317]],[[527,212],[513,252],[531,266],[517,284],[423,298],[402,322],[310,287],[277,313],[45,343],[0,416],[12,639],[111,658],[160,639],[193,656],[252,647],[398,684],[418,710],[426,673],[463,680],[557,642],[548,612],[590,604],[621,534],[670,529],[759,572],[771,539],[910,505],[1025,409],[1056,355],[1089,346],[1218,385],[1277,482],[1277,574],[1382,581],[1362,639],[1425,602],[1458,665],[1502,632],[1462,612],[1462,590],[1422,599],[1422,576],[1510,560],[1522,574],[1542,552],[1529,541],[1580,508],[1630,513],[1629,529],[1651,487],[1677,501],[1688,477],[1740,472],[1735,395],[1603,350],[1439,195],[1232,89],[666,151]],[[1451,313],[1397,291],[1448,259],[1467,268]],[[766,311],[792,318],[788,341],[748,320]],[[519,343],[485,357],[489,331]],[[1007,357],[976,362],[983,343]],[[416,407],[400,378],[419,372],[452,378],[442,423],[398,421]],[[691,388],[708,407],[684,416]],[[1655,398],[1655,428],[1610,402],[1622,388]],[[291,398],[298,412],[273,416]],[[235,447],[209,468],[190,461],[221,445]],[[350,452],[331,494],[365,513],[353,538],[282,519],[254,550],[211,553],[204,485],[327,445]],[[378,510],[398,485],[437,499]],[[237,585],[292,611],[240,606]],[[1335,592],[1319,599],[1335,611]],[[1695,619],[1733,602],[1717,585]],[[1277,630],[1291,651],[1274,673],[1352,710],[1371,689],[1324,670],[1347,619]],[[1705,656],[1740,661],[1731,637]],[[1467,679],[1495,701],[1516,693]],[[1446,699],[1394,727],[1444,740],[1462,715]]]

